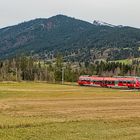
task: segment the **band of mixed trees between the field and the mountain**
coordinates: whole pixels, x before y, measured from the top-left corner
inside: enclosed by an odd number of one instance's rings
[[[46,81],[50,83],[76,82],[80,75],[140,76],[140,63],[120,62],[64,62],[58,55],[53,62],[32,57],[18,57],[0,61],[0,81]]]

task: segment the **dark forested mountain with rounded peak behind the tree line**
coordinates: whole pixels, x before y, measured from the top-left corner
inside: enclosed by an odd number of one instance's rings
[[[57,15],[0,29],[0,59],[32,55],[65,61],[140,57],[140,29],[91,24]]]

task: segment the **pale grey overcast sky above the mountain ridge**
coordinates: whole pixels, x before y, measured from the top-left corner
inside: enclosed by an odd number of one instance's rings
[[[0,0],[0,28],[57,14],[140,28],[140,0]]]

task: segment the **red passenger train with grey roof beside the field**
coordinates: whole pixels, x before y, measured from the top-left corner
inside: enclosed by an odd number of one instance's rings
[[[80,76],[78,84],[81,86],[127,87],[129,89],[139,89],[140,77]]]

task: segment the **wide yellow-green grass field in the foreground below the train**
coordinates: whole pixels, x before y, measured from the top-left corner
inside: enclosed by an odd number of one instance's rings
[[[140,140],[140,91],[0,83],[0,140]]]

